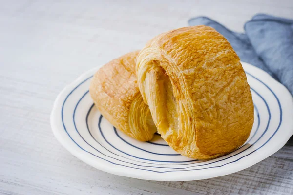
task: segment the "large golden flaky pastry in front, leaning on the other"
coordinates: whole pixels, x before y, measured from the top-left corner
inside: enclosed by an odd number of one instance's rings
[[[213,28],[185,27],[150,40],[136,75],[158,133],[181,155],[214,158],[249,137],[250,87],[239,57]]]

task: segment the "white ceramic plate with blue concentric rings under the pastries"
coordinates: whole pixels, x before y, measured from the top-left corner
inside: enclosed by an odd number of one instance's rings
[[[108,173],[148,180],[187,181],[224,176],[277,152],[293,134],[293,98],[264,71],[242,62],[254,103],[248,141],[229,155],[195,160],[179,155],[155,135],[151,142],[126,136],[94,107],[88,93],[97,69],[65,87],[51,113],[55,137],[74,156]]]

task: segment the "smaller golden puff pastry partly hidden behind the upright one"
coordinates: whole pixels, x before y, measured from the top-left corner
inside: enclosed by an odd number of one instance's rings
[[[135,75],[138,52],[128,53],[100,68],[91,81],[89,93],[114,127],[137,140],[148,141],[157,128],[138,89]]]

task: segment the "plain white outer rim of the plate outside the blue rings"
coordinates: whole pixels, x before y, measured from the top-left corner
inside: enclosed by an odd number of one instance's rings
[[[274,88],[277,89],[278,93],[283,93],[282,98],[284,98],[284,97],[289,98],[288,104],[291,104],[291,106],[289,105],[289,107],[291,107],[291,110],[289,108],[289,109],[286,109],[286,111],[289,110],[290,111],[289,114],[293,118],[293,97],[292,97],[291,93],[288,91],[288,89],[284,85],[279,83],[277,80],[272,78],[267,72],[261,70],[260,68],[257,68],[249,63],[246,63],[246,62],[241,61],[241,63],[244,66],[248,66],[250,69],[251,68],[255,69],[256,72],[261,73],[263,79],[270,80],[270,85],[277,85],[277,86],[274,86]],[[277,145],[274,145],[274,147],[271,148],[270,151],[268,151],[266,153],[258,154],[258,156],[256,158],[254,158],[254,160],[249,161],[247,163],[237,162],[232,165],[232,167],[233,167],[232,169],[223,169],[222,172],[216,172],[216,173],[212,174],[212,176],[209,176],[210,174],[201,175],[201,176],[188,176],[188,174],[187,174],[187,176],[185,178],[176,178],[176,177],[170,177],[170,176],[166,177],[164,175],[161,175],[161,177],[158,177],[158,176],[153,176],[152,174],[143,174],[143,175],[137,174],[139,172],[135,172],[135,171],[132,173],[130,173],[130,172],[128,173],[127,171],[124,171],[124,168],[119,168],[119,167],[116,167],[115,165],[109,166],[108,164],[106,165],[106,162],[105,163],[97,163],[96,160],[93,160],[93,159],[91,159],[91,157],[84,155],[84,151],[76,150],[75,147],[73,146],[74,142],[72,140],[69,140],[69,137],[64,137],[61,134],[60,131],[61,131],[61,128],[63,129],[63,126],[60,127],[60,124],[58,124],[59,123],[58,120],[60,120],[60,118],[58,117],[60,115],[60,114],[58,114],[58,112],[60,110],[58,108],[62,107],[62,103],[65,100],[65,97],[67,97],[67,95],[69,94],[70,90],[75,88],[78,85],[78,83],[80,83],[82,80],[84,80],[85,78],[88,78],[89,74],[92,75],[93,72],[97,71],[101,67],[102,66],[86,71],[84,74],[82,74],[77,79],[72,81],[70,84],[65,86],[63,88],[63,90],[58,94],[57,98],[55,99],[53,109],[52,109],[51,115],[50,115],[50,123],[51,123],[51,128],[52,128],[53,134],[57,138],[57,140],[63,145],[63,147],[67,151],[69,151],[73,156],[76,156],[77,158],[79,158],[80,160],[85,162],[86,164],[89,164],[90,166],[92,166],[96,169],[99,169],[101,171],[105,171],[107,173],[111,173],[111,174],[119,175],[119,176],[127,176],[127,177],[132,177],[132,178],[137,178],[137,179],[156,180],[156,181],[189,181],[189,180],[200,180],[200,179],[207,179],[207,178],[213,178],[213,177],[218,177],[218,176],[225,176],[225,175],[229,175],[229,174],[241,171],[241,170],[246,169],[248,167],[251,167],[252,165],[264,160],[265,158],[272,156],[274,153],[276,153],[278,150],[280,150],[286,144],[286,142],[290,139],[290,137],[293,135],[293,126],[291,126],[291,128],[290,128],[290,127],[288,127],[288,125],[286,125],[286,127],[288,128],[287,135],[284,135],[282,137],[283,139],[280,140]],[[278,96],[276,96],[276,97],[278,97]],[[290,101],[290,99],[291,99],[291,101]],[[192,170],[190,170],[190,172],[192,172]]]

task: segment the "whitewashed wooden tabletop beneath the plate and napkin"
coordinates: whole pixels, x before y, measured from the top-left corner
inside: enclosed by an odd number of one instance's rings
[[[293,139],[228,176],[158,182],[96,170],[67,152],[49,116],[63,87],[84,71],[140,49],[205,15],[231,30],[258,12],[293,18],[292,0],[0,0],[0,194],[293,194]]]

